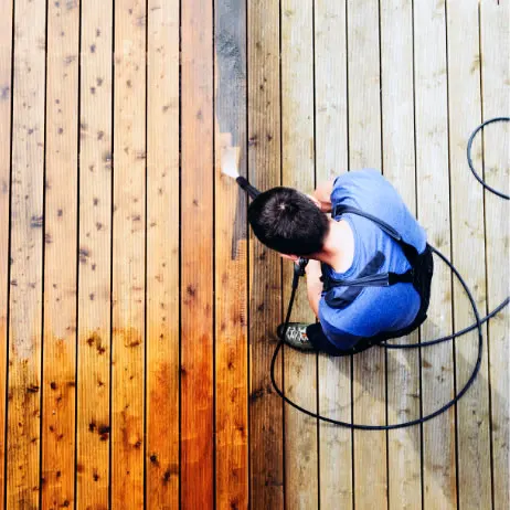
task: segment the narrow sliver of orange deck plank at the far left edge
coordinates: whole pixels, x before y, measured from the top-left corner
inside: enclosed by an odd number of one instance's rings
[[[9,309],[9,209],[12,105],[12,1],[0,2],[0,501],[6,487],[6,386]]]

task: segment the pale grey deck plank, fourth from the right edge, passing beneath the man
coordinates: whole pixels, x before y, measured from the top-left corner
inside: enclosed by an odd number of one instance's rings
[[[413,12],[408,0],[381,1],[382,148],[384,177],[416,214],[413,94]],[[418,332],[399,339],[417,343]],[[387,422],[419,417],[419,352],[391,350],[386,354]],[[390,508],[422,504],[421,428],[387,433]]]

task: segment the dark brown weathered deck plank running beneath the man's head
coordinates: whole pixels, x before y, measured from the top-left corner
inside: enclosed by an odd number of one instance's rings
[[[259,190],[280,184],[279,4],[248,2],[248,177]],[[269,366],[281,321],[281,263],[249,237],[251,506],[284,508],[283,403]],[[281,361],[276,381],[281,387]]]

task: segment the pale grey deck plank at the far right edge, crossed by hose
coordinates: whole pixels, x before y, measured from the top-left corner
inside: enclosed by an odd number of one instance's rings
[[[510,22],[508,2],[480,2],[480,59],[482,77],[482,120],[509,115],[510,64],[508,40]],[[498,123],[484,132],[484,176],[487,182],[509,193],[510,182],[510,126]],[[477,168],[480,170],[480,167]],[[508,201],[486,192],[486,253],[487,307],[496,308],[509,295],[508,262],[510,259],[510,224]],[[509,339],[510,315],[508,307],[488,328],[490,427],[493,509],[510,508],[510,375]]]

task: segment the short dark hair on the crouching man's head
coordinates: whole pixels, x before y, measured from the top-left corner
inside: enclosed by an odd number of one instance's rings
[[[329,231],[327,215],[304,193],[273,188],[248,208],[248,222],[261,243],[287,255],[320,252]]]

